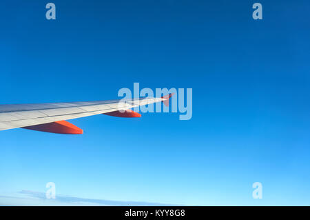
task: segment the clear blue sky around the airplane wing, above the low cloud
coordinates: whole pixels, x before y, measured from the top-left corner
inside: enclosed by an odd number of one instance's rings
[[[193,117],[0,132],[1,204],[21,190],[185,205],[310,205],[308,1],[4,1],[0,103],[193,88]],[[263,198],[253,199],[261,182]],[[4,197],[6,196],[6,197]],[[15,202],[15,201],[14,201]]]

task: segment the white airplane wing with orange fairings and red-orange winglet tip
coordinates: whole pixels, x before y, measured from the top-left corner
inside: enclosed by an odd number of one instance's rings
[[[167,106],[170,97],[172,94],[161,98],[131,100],[0,105],[0,130],[25,128],[58,134],[82,134],[81,128],[65,120],[95,114],[107,114],[114,117],[141,117],[141,114],[130,110],[130,108],[160,101]]]

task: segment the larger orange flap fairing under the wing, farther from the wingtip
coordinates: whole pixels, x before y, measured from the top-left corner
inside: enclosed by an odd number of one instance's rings
[[[27,126],[23,128],[55,134],[83,134],[83,130],[81,128],[74,126],[68,121],[55,121],[51,123],[43,123],[41,125]]]

